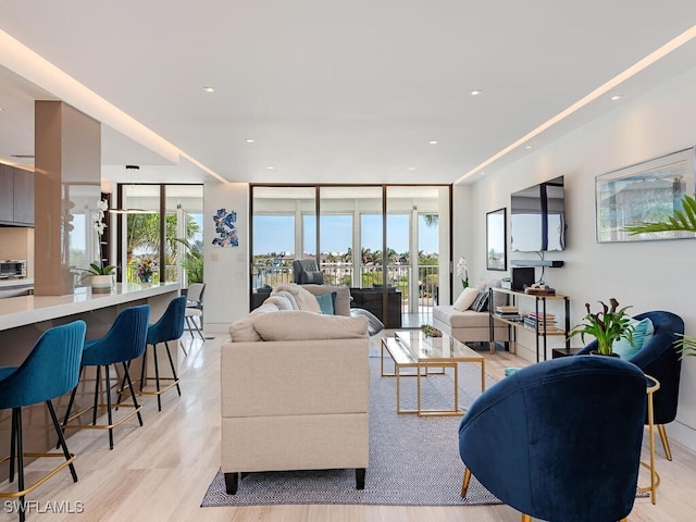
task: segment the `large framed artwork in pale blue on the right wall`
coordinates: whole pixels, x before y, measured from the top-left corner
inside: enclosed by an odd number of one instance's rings
[[[689,232],[630,235],[625,227],[664,221],[694,194],[694,148],[680,150],[595,178],[597,243],[696,237]]]

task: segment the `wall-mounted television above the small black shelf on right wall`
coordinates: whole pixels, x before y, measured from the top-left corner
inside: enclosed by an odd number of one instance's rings
[[[563,176],[513,192],[510,199],[513,252],[566,249]]]

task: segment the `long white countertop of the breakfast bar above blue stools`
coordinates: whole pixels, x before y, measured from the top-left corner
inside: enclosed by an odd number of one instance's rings
[[[178,289],[178,283],[117,283],[111,294],[92,294],[91,288],[85,287],[76,288],[74,294],[67,296],[21,296],[0,299],[0,331],[147,299]]]

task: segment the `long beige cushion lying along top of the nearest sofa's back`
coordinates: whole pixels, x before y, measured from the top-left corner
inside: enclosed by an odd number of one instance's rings
[[[356,339],[368,336],[368,318],[298,311],[263,313],[253,322],[263,340]]]

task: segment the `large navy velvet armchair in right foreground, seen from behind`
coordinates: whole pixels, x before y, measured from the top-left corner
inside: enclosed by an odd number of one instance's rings
[[[610,357],[524,368],[483,393],[459,424],[459,453],[505,504],[549,522],[616,522],[633,508],[648,383]]]

